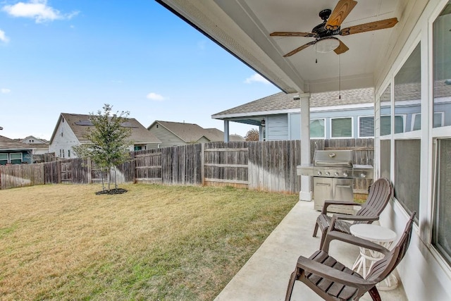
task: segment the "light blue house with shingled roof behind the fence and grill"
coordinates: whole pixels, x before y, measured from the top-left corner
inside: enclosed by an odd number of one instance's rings
[[[299,140],[301,109],[296,96],[279,92],[211,118],[257,125],[260,140]],[[310,104],[311,138],[374,137],[373,88],[312,93]]]

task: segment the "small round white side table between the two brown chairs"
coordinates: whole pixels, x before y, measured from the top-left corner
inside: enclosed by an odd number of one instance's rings
[[[390,229],[375,225],[373,223],[357,223],[350,227],[350,231],[352,235],[376,242],[388,250],[390,250],[390,246],[395,241],[397,236],[396,233]],[[352,266],[352,270],[357,269],[355,271],[359,273],[360,269],[362,269],[362,276],[366,278],[373,264],[382,257],[383,254],[379,252],[360,247],[359,257],[357,257],[354,265]],[[393,290],[397,287],[397,278],[392,274],[385,278],[384,282],[385,285],[377,285],[379,290]]]

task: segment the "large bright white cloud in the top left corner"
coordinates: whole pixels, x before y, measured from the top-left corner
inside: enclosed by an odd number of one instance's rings
[[[78,11],[63,14],[57,9],[48,6],[47,0],[30,0],[26,3],[18,2],[14,5],[6,5],[1,9],[14,17],[35,19],[36,23],[70,19],[78,14]]]

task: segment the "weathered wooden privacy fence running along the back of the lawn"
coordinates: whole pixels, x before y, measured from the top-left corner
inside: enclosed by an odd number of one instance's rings
[[[297,193],[300,140],[211,142],[130,153],[130,161],[111,172],[112,183],[233,185],[252,190]],[[310,140],[316,149],[352,149],[354,164],[373,164],[372,139]],[[99,183],[105,171],[86,159],[0,166],[1,189],[47,183]],[[368,191],[371,180],[354,180],[354,192]]]

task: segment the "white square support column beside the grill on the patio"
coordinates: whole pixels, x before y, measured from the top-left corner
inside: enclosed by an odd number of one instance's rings
[[[301,165],[310,164],[310,93],[299,94],[301,99]],[[301,176],[299,201],[311,201],[311,178]]]

